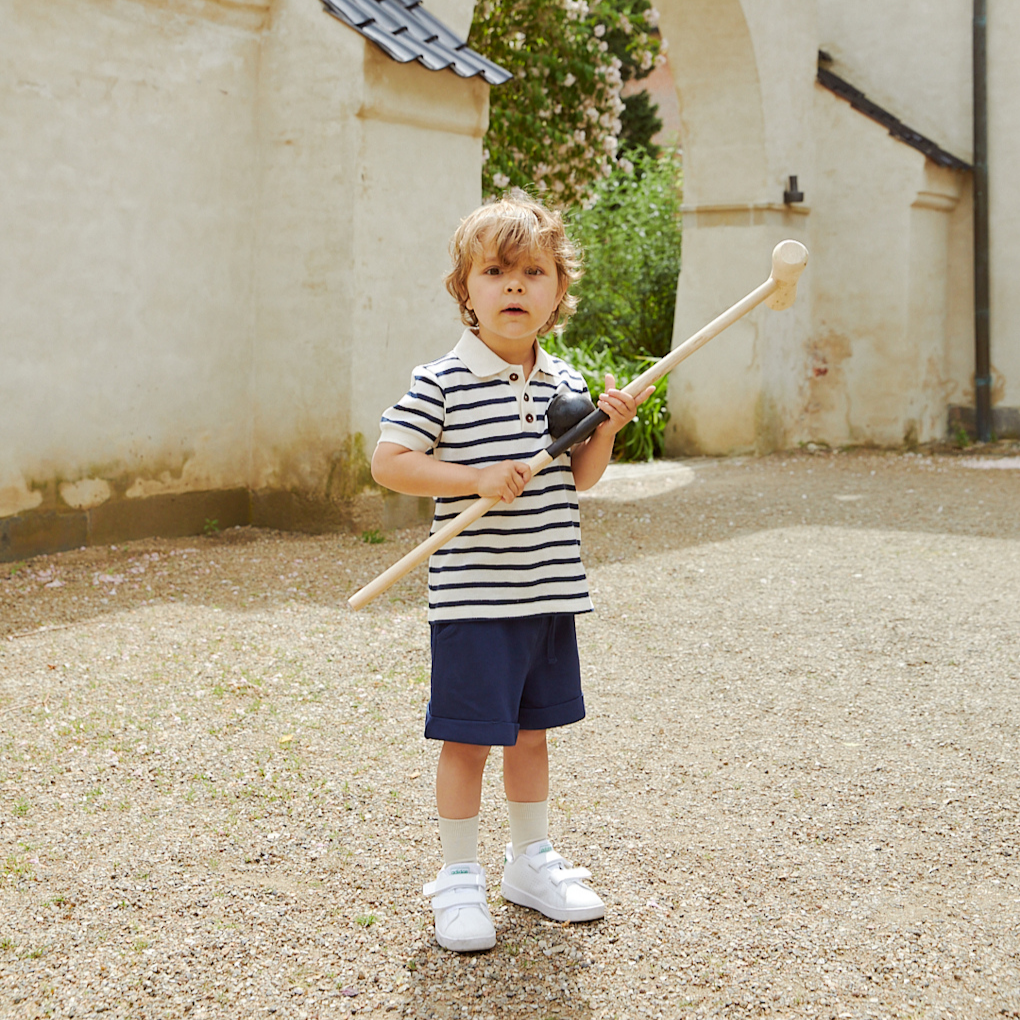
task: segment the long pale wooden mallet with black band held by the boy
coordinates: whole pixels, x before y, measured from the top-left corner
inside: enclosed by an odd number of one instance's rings
[[[663,375],[671,372],[684,358],[688,358],[699,348],[704,347],[713,337],[717,337],[727,326],[732,325],[737,319],[743,318],[753,308],[764,302],[769,308],[781,311],[789,308],[797,298],[797,282],[804,267],[808,264],[808,250],[800,241],[780,241],[772,252],[772,272],[768,279],[761,287],[756,288],[746,298],[737,301],[735,305],[724,311],[717,318],[712,319],[708,325],[699,329],[693,337],[685,340],[679,347],[674,348],[664,358],[660,358],[654,365],[641,373],[635,379],[623,387],[624,393],[636,397],[653,382],[658,381]],[[567,429],[558,439],[543,450],[537,453],[527,466],[534,476],[543,468],[551,464],[560,454],[569,450],[570,447],[581,443],[595,431],[596,428],[607,421],[609,416],[598,408],[586,414],[572,428]],[[398,560],[392,567],[385,570],[374,580],[367,583],[363,589],[355,592],[348,599],[348,604],[352,609],[361,609],[366,606],[377,595],[381,595],[388,588],[395,584],[401,577],[413,570],[419,563],[428,559],[437,549],[442,548],[454,536],[460,534],[468,525],[473,524],[479,517],[488,513],[497,503],[500,497],[479,497],[462,513],[459,513],[453,520],[447,521],[438,531],[430,534],[419,546],[412,549],[406,556]]]

